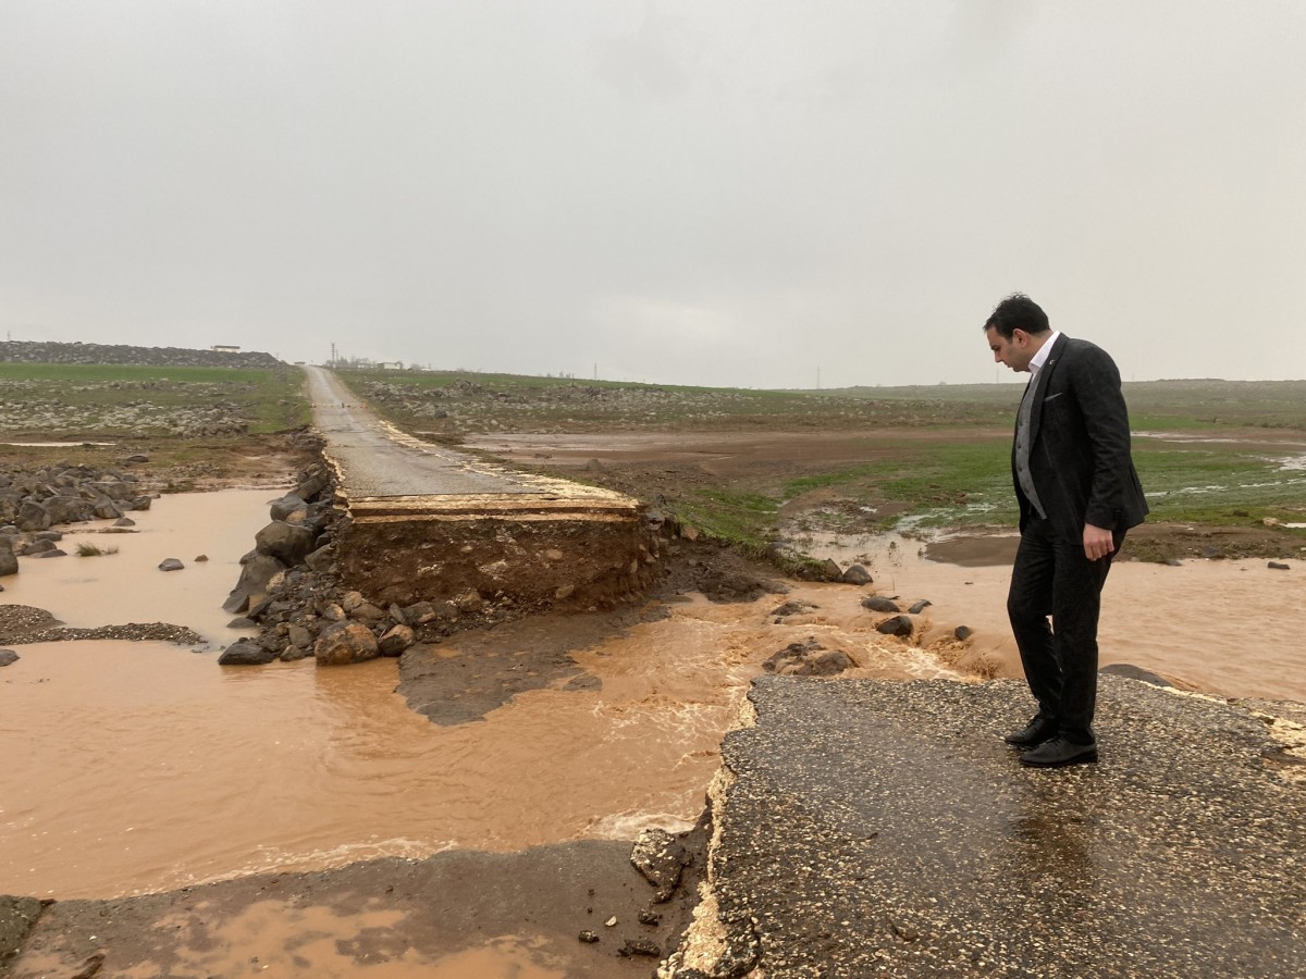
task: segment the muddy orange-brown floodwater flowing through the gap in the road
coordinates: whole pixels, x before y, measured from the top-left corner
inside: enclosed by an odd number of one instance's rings
[[[573,653],[601,688],[533,691],[483,721],[440,727],[394,693],[393,660],[217,666],[234,638],[219,606],[277,495],[165,497],[140,514],[141,534],[97,538],[118,555],[25,560],[5,581],[7,602],[73,625],[165,620],[209,642],[16,647],[20,662],[0,671],[0,893],[114,897],[376,855],[683,829],[701,812],[748,681],[788,644],[842,649],[857,676],[955,675],[876,634],[878,616],[858,603],[865,589],[797,585],[755,603],[673,603],[667,617]],[[865,557],[880,593],[934,603],[921,616],[927,641],[970,625],[966,655],[1015,675],[1007,569],[926,561],[918,543],[888,543],[816,550]],[[197,553],[210,560],[195,564]],[[185,570],[158,572],[170,556]],[[1104,662],[1229,696],[1306,700],[1294,638],[1306,628],[1306,569],[1290,564],[1119,564]],[[777,623],[784,600],[812,607]],[[457,637],[438,649],[458,655]]]

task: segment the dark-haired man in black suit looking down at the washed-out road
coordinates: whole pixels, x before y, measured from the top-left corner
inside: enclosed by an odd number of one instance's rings
[[[1038,714],[1006,740],[1025,749],[1024,765],[1097,761],[1102,585],[1124,531],[1148,510],[1130,457],[1121,373],[1106,351],[1054,333],[1025,295],[998,304],[985,337],[994,360],[1033,375],[1011,450],[1020,550],[1007,615]]]

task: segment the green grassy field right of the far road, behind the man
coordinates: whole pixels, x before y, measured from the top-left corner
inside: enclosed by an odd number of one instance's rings
[[[893,429],[895,454],[782,479],[686,484],[671,508],[705,533],[764,547],[781,505],[829,491],[865,526],[859,509],[891,503],[916,526],[1015,526],[1011,426],[1023,386],[852,388],[759,392],[577,381],[465,372],[343,371],[342,379],[400,427],[457,443],[487,432],[857,431]],[[1306,381],[1126,382],[1135,462],[1153,520],[1252,525],[1299,522],[1306,473],[1282,459],[1306,454]],[[929,429],[929,436],[925,431]],[[919,439],[912,432],[921,431]],[[956,439],[938,437],[956,431]],[[1281,445],[1275,445],[1281,443]],[[842,516],[841,516],[842,514]]]

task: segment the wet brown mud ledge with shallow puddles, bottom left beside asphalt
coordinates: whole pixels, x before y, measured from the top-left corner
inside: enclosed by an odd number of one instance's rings
[[[701,839],[687,842],[703,848]],[[622,950],[639,942],[669,954],[701,873],[701,862],[691,862],[671,898],[656,902],[629,843],[580,841],[60,901],[42,915],[12,975],[643,978],[657,959]],[[597,941],[580,941],[581,932]]]

